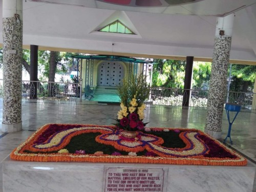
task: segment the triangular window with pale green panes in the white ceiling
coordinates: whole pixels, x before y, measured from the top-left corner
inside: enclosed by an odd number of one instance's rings
[[[127,28],[119,20],[100,28],[98,31],[109,33],[135,34],[131,29]]]

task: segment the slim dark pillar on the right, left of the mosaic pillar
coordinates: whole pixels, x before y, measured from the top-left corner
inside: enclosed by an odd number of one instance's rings
[[[184,93],[183,93],[182,106],[189,106],[190,89],[191,89],[191,81],[192,81],[192,74],[193,74],[193,61],[194,61],[194,57],[192,56],[186,57],[186,69],[185,69]]]

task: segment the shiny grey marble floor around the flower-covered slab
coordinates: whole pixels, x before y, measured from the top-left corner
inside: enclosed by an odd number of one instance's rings
[[[0,121],[2,122],[3,102],[0,99]],[[0,131],[0,162],[35,130],[46,123],[86,123],[110,125],[114,123],[119,106],[98,104],[90,101],[22,101],[23,130],[16,133]],[[232,118],[232,112],[230,117]],[[181,108],[177,106],[147,105],[145,122],[149,127],[186,127],[204,130],[205,108]],[[2,124],[0,124],[0,127]],[[1,129],[0,129],[1,130]],[[228,131],[225,111],[222,120],[222,140]],[[256,164],[256,111],[242,111],[238,114],[231,130],[231,145],[227,145]],[[253,191],[256,191],[254,180]],[[0,163],[0,191],[2,191],[2,164]]]

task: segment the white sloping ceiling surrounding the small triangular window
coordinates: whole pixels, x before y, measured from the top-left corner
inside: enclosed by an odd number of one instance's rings
[[[256,0],[24,0],[23,44],[77,53],[211,59],[217,18],[231,13],[236,16],[230,59],[256,64]],[[116,19],[136,35],[97,31]]]

